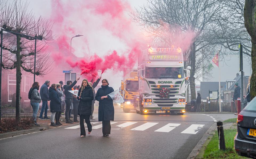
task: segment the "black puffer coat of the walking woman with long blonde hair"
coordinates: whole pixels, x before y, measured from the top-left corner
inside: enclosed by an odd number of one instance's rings
[[[78,96],[80,95],[81,89],[78,91]],[[78,105],[78,115],[91,115],[91,104],[93,101],[93,88],[90,86],[85,87],[80,96],[80,101]],[[77,99],[79,99],[77,97]]]

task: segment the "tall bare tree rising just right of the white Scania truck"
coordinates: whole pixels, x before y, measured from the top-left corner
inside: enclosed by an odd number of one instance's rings
[[[206,35],[205,32],[213,27],[212,24],[221,17],[222,11],[223,3],[215,0],[148,0],[146,5],[133,13],[134,20],[149,29],[149,32],[152,28],[158,29],[167,24],[172,32],[179,28],[185,33],[194,33],[190,46],[183,50],[188,58],[186,66],[191,66],[191,99],[196,98],[195,74],[200,72],[197,67],[200,60],[198,62],[197,57],[206,58],[208,55],[201,55],[199,52],[202,53],[203,48],[211,45],[211,42],[205,41],[203,37]],[[175,39],[170,42],[173,41]],[[202,70],[203,67],[199,68],[201,72],[205,72]]]

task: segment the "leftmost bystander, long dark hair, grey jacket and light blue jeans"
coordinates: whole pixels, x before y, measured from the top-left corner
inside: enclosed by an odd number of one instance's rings
[[[34,82],[32,87],[29,90],[29,99],[30,99],[30,104],[33,108],[33,120],[35,125],[39,125],[37,123],[37,112],[39,109],[39,103],[41,102],[41,97],[38,90],[39,90],[38,82]]]

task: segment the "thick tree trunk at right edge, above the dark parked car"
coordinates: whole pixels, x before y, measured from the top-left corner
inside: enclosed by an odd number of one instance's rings
[[[251,99],[256,96],[256,0],[246,0],[244,8],[245,27],[251,36]]]

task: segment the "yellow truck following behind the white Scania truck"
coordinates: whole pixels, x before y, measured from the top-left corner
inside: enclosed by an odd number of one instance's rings
[[[125,113],[129,113],[131,110],[136,110],[136,107],[134,106],[134,96],[139,95],[139,83],[137,75],[137,69],[124,68],[123,70],[121,94],[125,102],[121,104],[121,108],[123,108]]]

